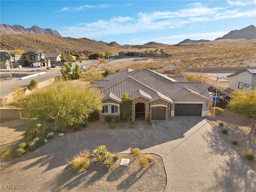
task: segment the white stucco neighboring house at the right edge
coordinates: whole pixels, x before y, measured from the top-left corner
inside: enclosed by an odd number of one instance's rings
[[[256,68],[246,68],[227,77],[229,77],[229,88],[232,89],[247,89],[249,87],[254,89],[256,86]]]

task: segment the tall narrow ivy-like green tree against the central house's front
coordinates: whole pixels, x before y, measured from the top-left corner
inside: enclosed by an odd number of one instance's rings
[[[122,96],[122,103],[121,103],[121,119],[123,121],[128,121],[128,120],[131,120],[132,118],[132,111],[131,111],[131,108],[132,108],[132,102],[130,100],[130,97],[128,96],[127,93],[125,93],[123,96]]]

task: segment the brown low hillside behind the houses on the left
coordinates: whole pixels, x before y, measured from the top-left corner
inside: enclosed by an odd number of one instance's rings
[[[0,42],[1,50],[16,50],[24,51],[37,50],[39,52],[64,52],[71,50],[74,52],[111,52],[118,54],[118,48],[114,46],[106,46],[96,40],[88,38],[70,38],[59,37],[45,34],[1,34]]]

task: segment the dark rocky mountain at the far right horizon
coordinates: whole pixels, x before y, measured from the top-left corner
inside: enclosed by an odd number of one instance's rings
[[[256,28],[253,25],[250,25],[246,28],[242,28],[240,30],[230,31],[228,34],[223,37],[216,38],[215,40],[220,39],[254,39],[256,38]]]

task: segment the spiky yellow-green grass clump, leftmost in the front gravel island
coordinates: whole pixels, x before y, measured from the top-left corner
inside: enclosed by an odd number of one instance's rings
[[[77,173],[86,171],[88,166],[90,165],[90,160],[84,156],[76,155],[73,159],[68,162],[68,165]]]

